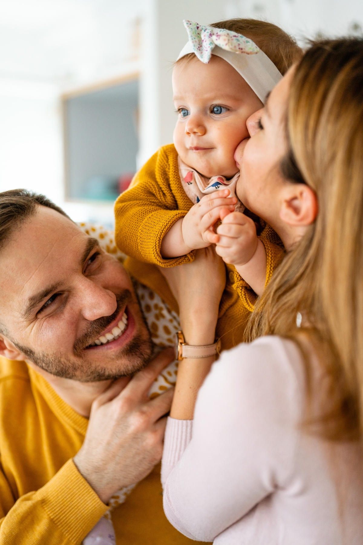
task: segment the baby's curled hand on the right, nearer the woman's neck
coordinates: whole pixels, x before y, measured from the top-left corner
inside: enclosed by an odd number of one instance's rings
[[[223,220],[217,234],[208,231],[205,238],[216,244],[216,252],[223,261],[235,266],[245,265],[254,256],[259,241],[255,223],[241,212],[228,214],[223,210],[221,216]]]

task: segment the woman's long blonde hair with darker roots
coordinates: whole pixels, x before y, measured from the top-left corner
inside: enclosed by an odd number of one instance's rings
[[[296,340],[308,378],[305,423],[325,438],[356,438],[363,428],[363,40],[323,40],[304,54],[287,129],[282,174],[309,185],[319,210],[257,304],[249,334]],[[311,380],[302,335],[324,367],[324,393]]]

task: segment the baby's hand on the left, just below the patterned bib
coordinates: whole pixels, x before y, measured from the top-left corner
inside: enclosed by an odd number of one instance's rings
[[[205,248],[212,243],[205,237],[206,232],[213,232],[213,225],[219,220],[222,210],[227,213],[235,210],[237,199],[229,197],[229,194],[229,189],[214,191],[202,197],[184,216],[182,235],[189,249]]]

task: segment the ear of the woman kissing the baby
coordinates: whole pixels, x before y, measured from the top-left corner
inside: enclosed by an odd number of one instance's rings
[[[303,227],[316,220],[318,201],[308,185],[287,182],[282,189],[280,202],[280,218],[288,225]]]

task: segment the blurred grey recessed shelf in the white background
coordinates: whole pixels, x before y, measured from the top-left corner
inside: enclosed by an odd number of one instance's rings
[[[139,78],[63,96],[66,201],[112,203],[136,173]]]

